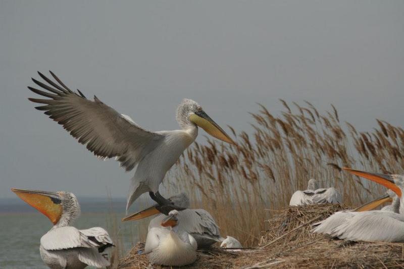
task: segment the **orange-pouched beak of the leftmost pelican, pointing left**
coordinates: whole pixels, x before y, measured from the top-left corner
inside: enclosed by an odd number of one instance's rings
[[[55,225],[63,213],[62,200],[55,192],[11,189],[18,197],[35,207]]]

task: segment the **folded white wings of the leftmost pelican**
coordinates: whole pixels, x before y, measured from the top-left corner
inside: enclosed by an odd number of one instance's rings
[[[46,250],[60,250],[71,248],[94,248],[98,252],[113,242],[108,232],[103,228],[94,227],[87,230],[78,230],[67,226],[52,229],[41,238],[41,245]]]

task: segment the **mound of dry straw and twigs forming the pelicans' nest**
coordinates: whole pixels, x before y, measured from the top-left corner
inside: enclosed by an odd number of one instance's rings
[[[348,209],[338,204],[289,207],[268,220],[259,246],[236,252],[219,248],[198,250],[198,259],[181,268],[319,268],[319,267],[404,267],[404,244],[347,242],[312,234],[312,224],[335,211]],[[168,268],[151,265],[138,243],[120,260],[118,268]]]

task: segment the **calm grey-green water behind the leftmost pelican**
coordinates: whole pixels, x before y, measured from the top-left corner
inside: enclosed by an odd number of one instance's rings
[[[139,230],[144,232],[146,222],[125,222],[125,200],[78,198],[81,216],[74,226],[87,229],[94,226],[105,228],[112,236],[117,231],[126,253],[138,241]],[[137,210],[135,207],[131,211]],[[114,220],[117,229],[114,229]],[[116,226],[115,226],[116,227]],[[0,268],[47,268],[39,254],[42,235],[52,228],[52,223],[18,198],[0,199]],[[90,267],[87,267],[90,268]]]

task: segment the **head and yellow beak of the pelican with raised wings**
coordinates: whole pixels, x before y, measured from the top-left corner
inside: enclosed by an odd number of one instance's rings
[[[202,107],[191,99],[183,99],[177,108],[177,122],[183,129],[190,126],[199,126],[208,134],[224,142],[235,144],[219,125],[217,125],[202,109]]]

